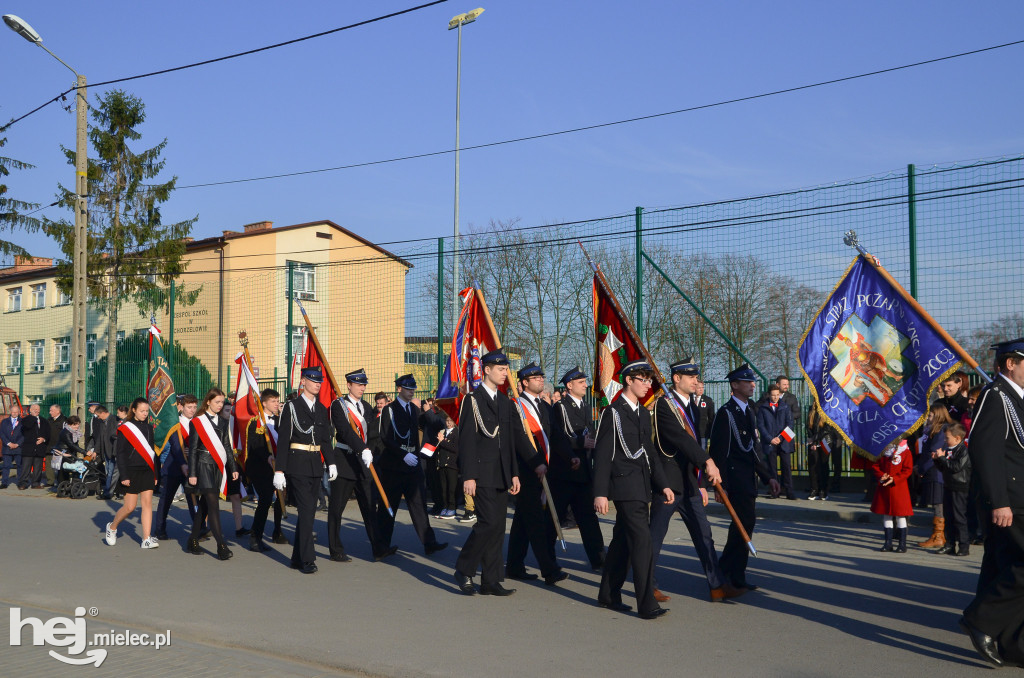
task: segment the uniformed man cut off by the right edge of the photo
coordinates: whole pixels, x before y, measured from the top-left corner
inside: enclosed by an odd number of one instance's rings
[[[998,374],[974,408],[971,464],[992,524],[977,594],[961,619],[995,666],[1024,665],[1024,338],[992,346]]]

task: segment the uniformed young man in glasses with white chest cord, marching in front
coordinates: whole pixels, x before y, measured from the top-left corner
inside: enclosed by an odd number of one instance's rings
[[[616,611],[627,611],[623,602],[623,584],[633,567],[633,589],[641,619],[662,617],[667,608],[654,599],[654,559],[650,539],[651,489],[674,504],[676,495],[669,486],[656,453],[650,447],[650,413],[643,398],[650,390],[653,370],[645,361],[623,366],[623,390],[601,412],[594,448],[594,510],[608,512],[608,501],[615,504],[615,527],[604,561],[597,603]],[[654,497],[654,502],[662,501]]]

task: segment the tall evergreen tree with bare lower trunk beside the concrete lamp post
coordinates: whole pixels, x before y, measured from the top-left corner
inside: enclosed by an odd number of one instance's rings
[[[161,294],[186,266],[182,261],[185,238],[198,217],[165,224],[160,206],[167,202],[177,177],[163,183],[146,183],[164,169],[161,154],[167,139],[145,151],[135,152],[130,141],[142,137],[138,127],[145,120],[145,105],[137,96],[112,90],[90,107],[89,125],[89,253],[87,264],[88,295],[105,312],[106,326],[106,397],[114,401],[117,365],[118,312],[121,304],[132,300],[141,312],[164,305]],[[75,164],[75,152],[63,150],[68,163]],[[73,208],[75,195],[59,186],[59,200]],[[58,268],[57,284],[72,289],[72,260],[75,251],[75,224],[46,220],[46,231],[60,245],[66,260]],[[195,298],[195,295],[190,295]]]

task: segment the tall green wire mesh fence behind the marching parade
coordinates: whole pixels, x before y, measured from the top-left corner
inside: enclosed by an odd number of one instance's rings
[[[179,391],[233,388],[241,329],[260,381],[287,390],[302,346],[304,323],[289,303],[298,298],[339,377],[365,368],[372,393],[392,391],[396,375],[413,372],[426,394],[445,361],[456,293],[475,284],[509,352],[538,361],[554,381],[593,359],[586,248],[658,362],[693,354],[714,382],[748,361],[766,379],[788,375],[806,408],[796,349],[854,257],[843,244],[848,229],[978,359],[987,362],[983,347],[992,337],[1024,334],[1022,181],[1022,156],[909,165],[811,188],[596,219],[495,221],[469,228],[458,243],[378,243],[370,253],[353,246],[351,256],[329,261],[304,262],[301,253],[287,252],[286,265],[240,258],[226,278],[211,272],[214,257],[207,255],[175,283],[173,305],[157,322],[175,346],[170,362]],[[2,277],[0,286],[11,287]],[[33,293],[24,287],[24,295]],[[186,304],[189,294],[196,299]],[[67,402],[60,372],[71,306],[38,315],[26,306],[8,306],[0,316],[8,385],[23,399]],[[147,327],[126,300],[114,333],[120,348],[109,397],[106,315],[101,307],[90,310],[90,398],[124,402],[141,392],[145,341],[136,335]],[[713,394],[716,402],[723,394]]]

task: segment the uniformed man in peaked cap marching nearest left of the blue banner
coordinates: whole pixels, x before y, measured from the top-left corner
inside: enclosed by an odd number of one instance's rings
[[[718,409],[711,425],[711,456],[722,469],[722,486],[729,495],[748,535],[754,534],[754,506],[758,497],[757,478],[778,495],[778,480],[772,477],[761,453],[758,426],[754,415],[754,387],[757,379],[745,364],[730,372],[726,379],[732,390],[725,405]],[[756,590],[746,581],[746,543],[734,523],[729,524],[729,537],[722,549],[719,564],[726,580],[733,588]]]

